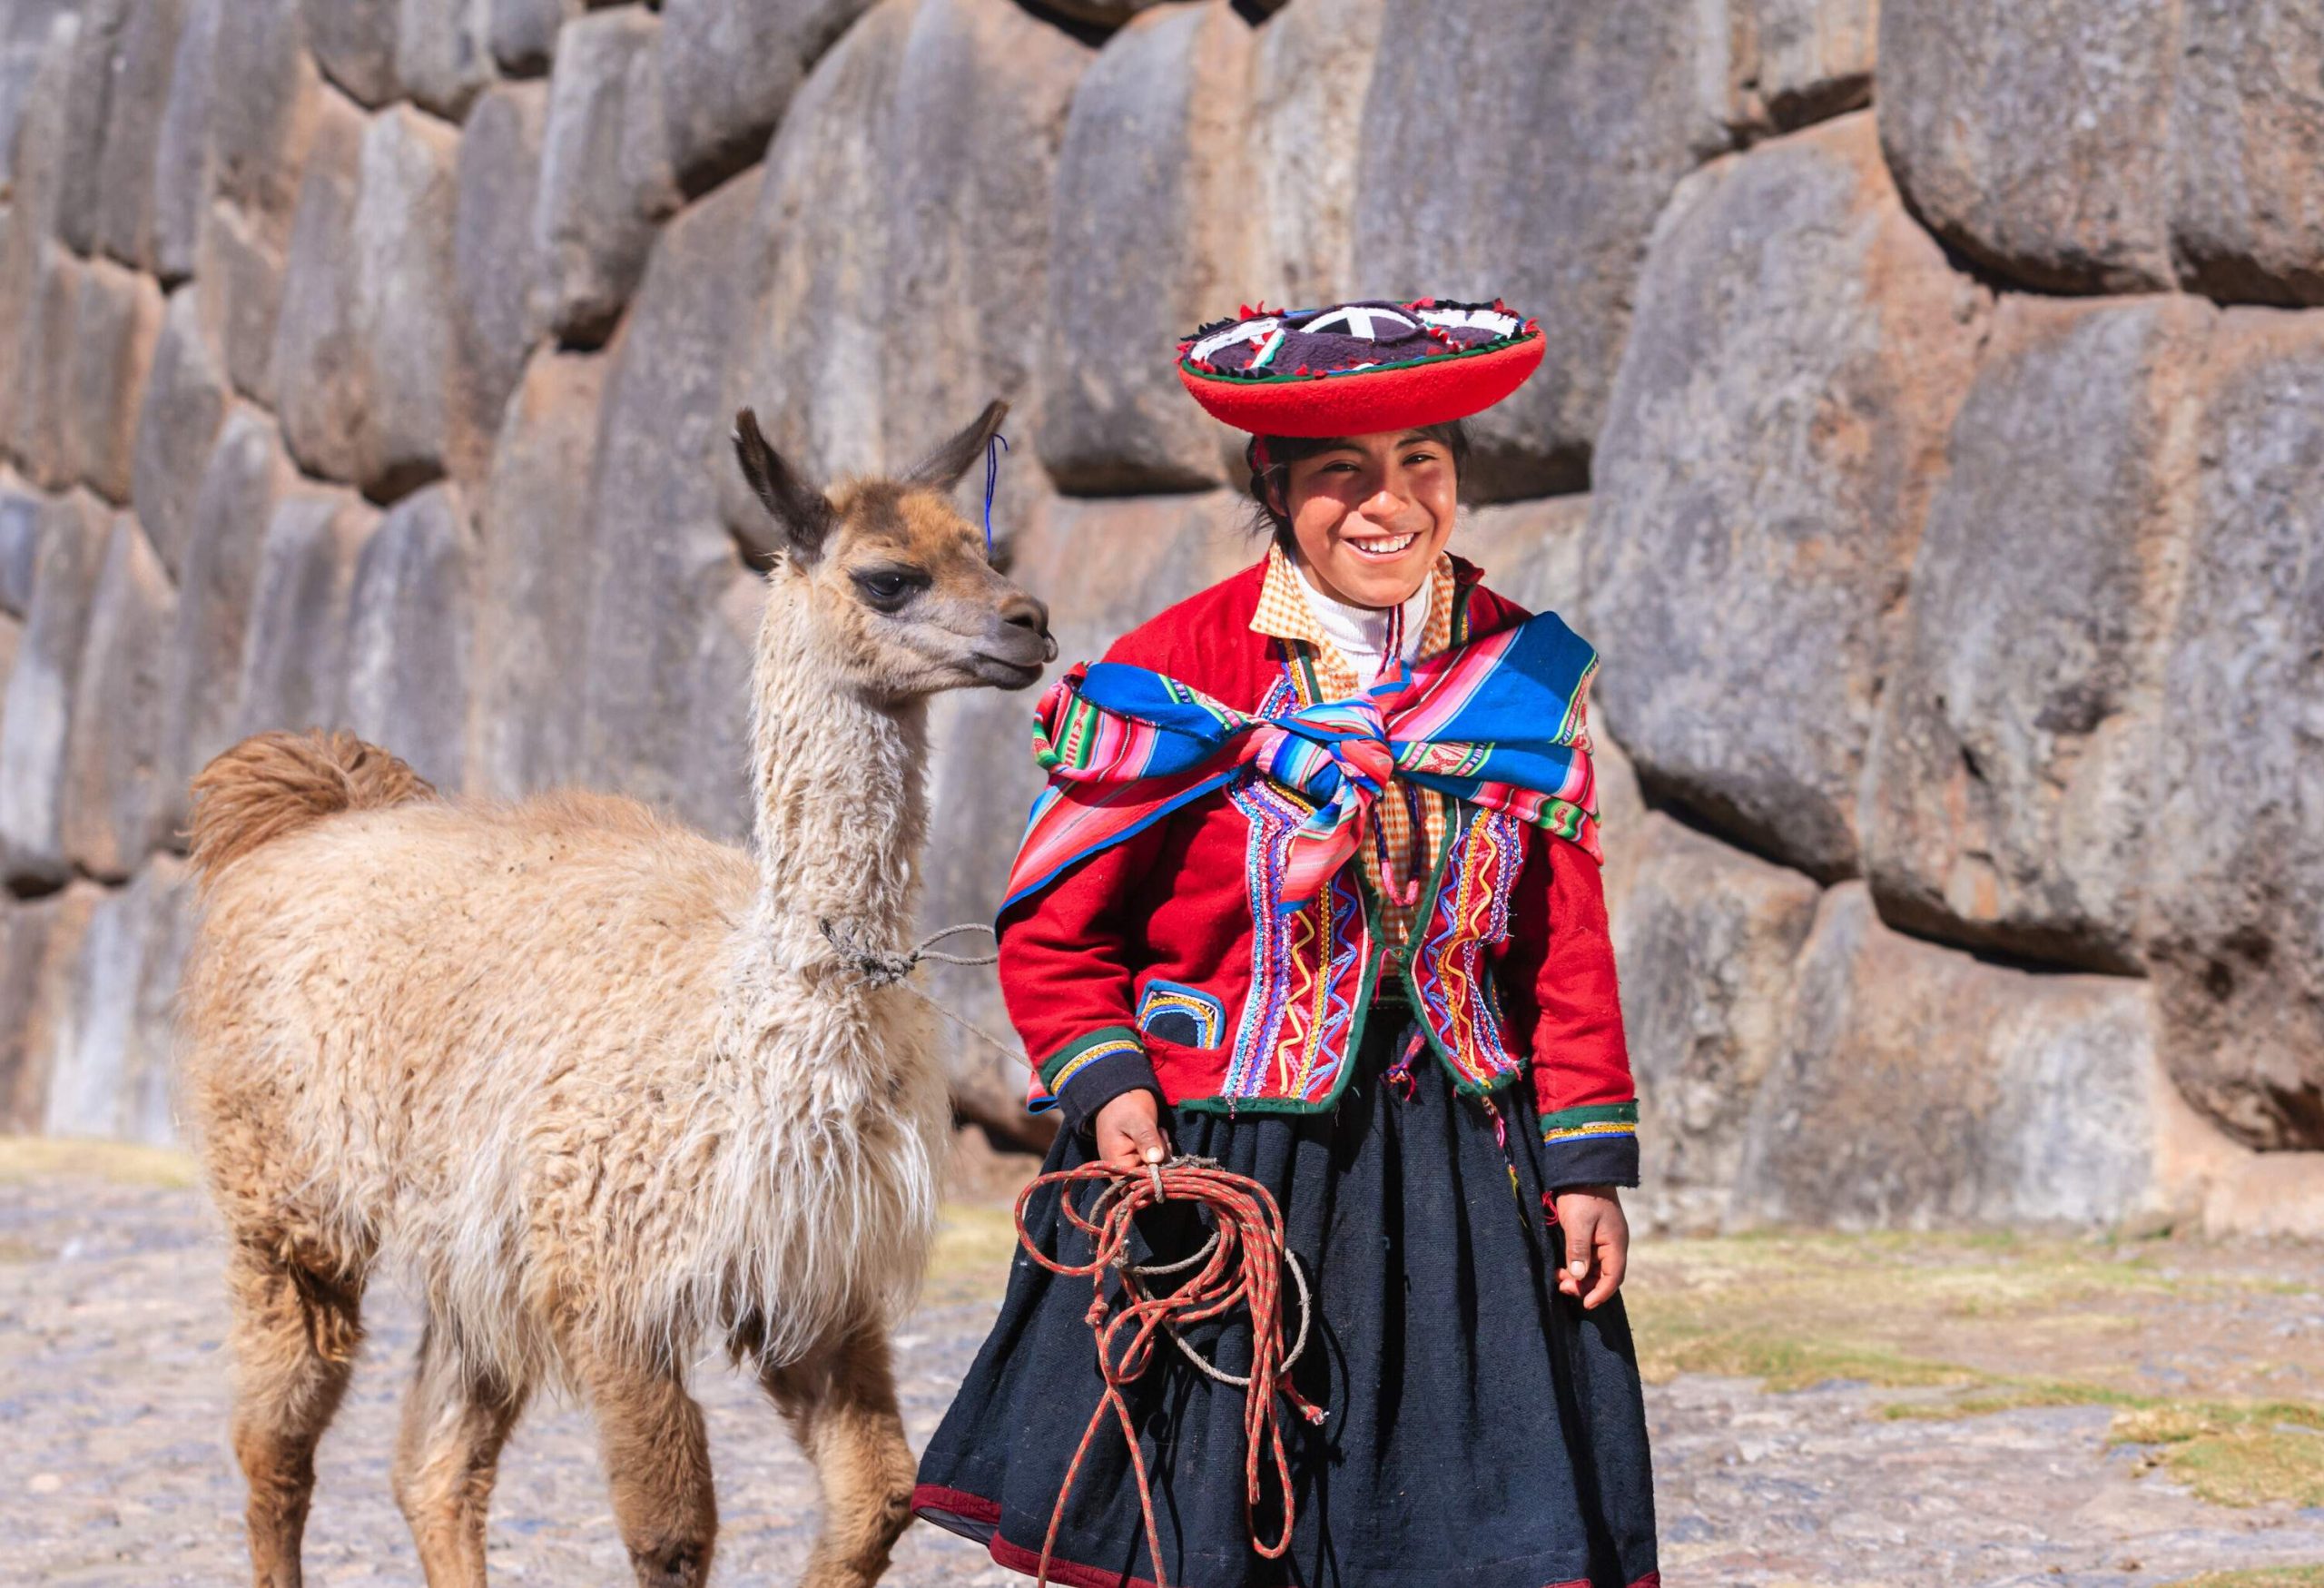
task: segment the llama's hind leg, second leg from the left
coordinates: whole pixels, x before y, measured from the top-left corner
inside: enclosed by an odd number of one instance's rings
[[[428,1325],[395,1439],[395,1504],[421,1546],[428,1588],[483,1588],[483,1514],[500,1446],[523,1409],[523,1386],[465,1372]]]

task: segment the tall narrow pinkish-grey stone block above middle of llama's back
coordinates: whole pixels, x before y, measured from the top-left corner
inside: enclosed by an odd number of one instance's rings
[[[493,449],[469,693],[474,793],[516,797],[586,781],[576,679],[590,656],[590,458],[604,363],[535,353]]]

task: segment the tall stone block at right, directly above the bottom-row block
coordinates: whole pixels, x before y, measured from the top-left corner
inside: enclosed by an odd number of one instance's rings
[[[2189,298],[2010,298],[1994,319],[1873,737],[1864,863],[1892,923],[2136,972],[2212,319]]]

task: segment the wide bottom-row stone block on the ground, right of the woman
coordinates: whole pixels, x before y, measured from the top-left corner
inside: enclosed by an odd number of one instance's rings
[[[1752,1104],[1741,1223],[2108,1225],[2157,1200],[2152,995],[1987,965],[1831,888]]]

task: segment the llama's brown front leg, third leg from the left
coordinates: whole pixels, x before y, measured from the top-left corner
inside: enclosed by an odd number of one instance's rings
[[[697,1588],[718,1537],[702,1407],[674,1367],[590,1360],[579,1376],[597,1414],[614,1521],[639,1588]]]

